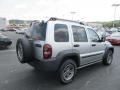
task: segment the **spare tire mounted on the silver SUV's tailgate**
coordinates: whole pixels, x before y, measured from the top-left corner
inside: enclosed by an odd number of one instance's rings
[[[16,43],[16,53],[21,63],[31,62],[33,59],[33,47],[27,38],[20,38]]]

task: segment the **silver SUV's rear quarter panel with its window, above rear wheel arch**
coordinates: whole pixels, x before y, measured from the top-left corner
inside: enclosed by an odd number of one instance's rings
[[[53,22],[52,37],[53,42],[53,57],[56,57],[60,52],[72,52],[71,33],[69,25],[63,21]],[[52,38],[51,37],[51,38]]]

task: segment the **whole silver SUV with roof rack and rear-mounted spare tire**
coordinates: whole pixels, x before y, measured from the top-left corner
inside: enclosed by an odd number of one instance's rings
[[[83,23],[50,18],[33,22],[17,40],[17,57],[36,69],[57,71],[62,83],[73,80],[77,69],[103,62],[110,65],[113,46]]]

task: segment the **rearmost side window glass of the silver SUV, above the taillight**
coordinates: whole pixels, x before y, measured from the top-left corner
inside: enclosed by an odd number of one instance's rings
[[[65,24],[55,24],[54,38],[56,42],[68,42],[69,34],[68,28]]]

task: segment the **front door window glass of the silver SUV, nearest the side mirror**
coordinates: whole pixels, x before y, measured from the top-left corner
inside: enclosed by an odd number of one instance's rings
[[[91,42],[98,42],[99,41],[99,36],[97,35],[97,33],[88,28],[88,35],[89,35],[89,39]]]

